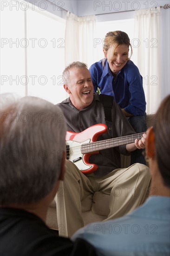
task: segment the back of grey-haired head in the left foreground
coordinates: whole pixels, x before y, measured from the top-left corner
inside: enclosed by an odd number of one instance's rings
[[[37,97],[9,100],[0,112],[0,205],[38,202],[59,179],[65,151],[63,114]]]

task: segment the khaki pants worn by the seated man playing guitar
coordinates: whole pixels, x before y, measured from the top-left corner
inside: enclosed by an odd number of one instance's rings
[[[92,208],[92,197],[96,191],[104,196],[109,195],[108,216],[105,221],[130,213],[145,201],[150,178],[150,169],[139,163],[129,168],[115,169],[108,175],[96,178],[94,174],[84,175],[74,163],[66,160],[65,179],[60,182],[55,196],[59,235],[71,237],[75,231],[84,227],[82,210],[88,211],[91,208],[98,214],[105,211],[102,207],[96,207],[97,202]],[[82,209],[81,202],[84,200],[86,205]]]

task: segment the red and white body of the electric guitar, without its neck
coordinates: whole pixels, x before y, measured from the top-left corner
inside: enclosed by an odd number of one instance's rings
[[[67,131],[66,133],[66,155],[67,159],[76,164],[78,169],[85,174],[92,173],[97,170],[96,164],[89,163],[89,157],[92,154],[98,154],[98,151],[88,154],[82,154],[81,146],[83,144],[97,141],[98,137],[107,133],[105,124],[96,124],[81,133]]]

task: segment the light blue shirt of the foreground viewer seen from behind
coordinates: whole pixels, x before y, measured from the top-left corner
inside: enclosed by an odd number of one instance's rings
[[[131,214],[79,229],[72,237],[83,238],[98,256],[169,256],[170,197],[151,196]]]

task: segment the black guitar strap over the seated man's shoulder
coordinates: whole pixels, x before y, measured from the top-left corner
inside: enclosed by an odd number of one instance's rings
[[[105,111],[105,122],[107,125],[108,134],[112,137],[112,106],[113,97],[110,95],[99,94],[100,101]]]

